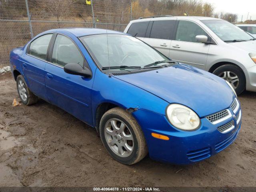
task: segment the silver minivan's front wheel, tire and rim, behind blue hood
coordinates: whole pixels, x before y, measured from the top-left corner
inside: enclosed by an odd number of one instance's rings
[[[213,74],[229,82],[238,95],[246,88],[244,72],[238,66],[225,64],[214,70]]]

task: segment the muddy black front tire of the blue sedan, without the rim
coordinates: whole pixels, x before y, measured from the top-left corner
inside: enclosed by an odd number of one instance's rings
[[[126,124],[126,127],[129,129],[133,138],[133,150],[131,154],[127,157],[118,156],[108,145],[105,137],[105,125],[111,119],[118,119]],[[134,117],[123,110],[122,108],[116,107],[108,110],[100,120],[100,138],[102,143],[110,156],[114,158],[116,161],[122,164],[135,164],[142,160],[146,154],[148,154],[148,148],[146,146],[146,140],[144,138],[144,134],[138,124],[138,122],[134,119]],[[113,137],[112,137],[113,138]],[[113,138],[114,139],[114,138]]]

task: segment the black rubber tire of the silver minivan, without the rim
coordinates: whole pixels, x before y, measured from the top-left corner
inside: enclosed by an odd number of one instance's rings
[[[232,72],[232,74],[236,74],[239,80],[239,84],[235,88],[236,94],[241,94],[246,88],[246,78],[244,76],[244,72],[238,66],[233,64],[224,64],[214,70],[213,74],[217,76],[221,76],[224,72]],[[229,81],[228,79],[226,79]]]

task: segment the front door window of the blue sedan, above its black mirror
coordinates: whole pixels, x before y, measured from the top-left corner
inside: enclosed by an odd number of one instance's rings
[[[68,63],[78,63],[83,66],[84,57],[72,40],[58,34],[52,50],[52,63],[61,66],[65,66]]]

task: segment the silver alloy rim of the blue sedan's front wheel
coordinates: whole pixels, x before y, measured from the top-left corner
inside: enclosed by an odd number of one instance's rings
[[[128,157],[134,149],[132,132],[119,119],[108,120],[104,127],[104,136],[110,149],[120,157]]]

